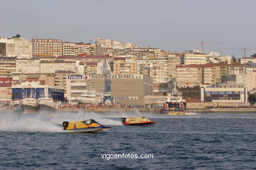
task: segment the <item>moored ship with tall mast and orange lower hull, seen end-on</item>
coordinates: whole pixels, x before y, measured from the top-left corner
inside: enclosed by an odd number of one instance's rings
[[[163,103],[163,109],[160,112],[171,115],[185,115],[186,101],[182,98],[182,93],[178,92],[176,84],[173,91],[168,93],[167,101]]]

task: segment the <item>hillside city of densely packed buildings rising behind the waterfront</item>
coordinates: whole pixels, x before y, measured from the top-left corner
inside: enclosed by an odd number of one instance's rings
[[[84,93],[106,91],[106,84],[112,99],[123,105],[162,106],[177,88],[188,109],[250,107],[256,55],[236,59],[202,50],[169,52],[112,39],[0,37],[1,105],[32,92],[40,97],[45,89],[55,101],[76,105],[83,103]]]

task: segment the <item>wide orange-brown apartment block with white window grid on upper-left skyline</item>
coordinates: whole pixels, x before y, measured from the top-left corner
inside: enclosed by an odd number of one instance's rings
[[[32,39],[33,58],[56,58],[62,56],[62,40]]]

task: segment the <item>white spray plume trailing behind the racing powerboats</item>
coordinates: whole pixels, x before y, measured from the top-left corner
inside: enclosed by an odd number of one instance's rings
[[[95,112],[62,112],[38,114],[17,114],[0,112],[0,131],[63,132],[62,122],[94,119],[104,126],[121,126],[121,120],[112,120]]]

